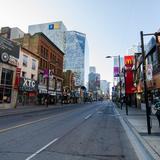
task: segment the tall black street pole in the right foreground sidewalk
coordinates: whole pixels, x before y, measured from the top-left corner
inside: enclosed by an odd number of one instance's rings
[[[151,123],[150,123],[151,110],[148,103],[148,91],[147,91],[147,83],[146,83],[146,60],[145,60],[145,51],[144,51],[143,31],[140,32],[140,37],[141,37],[141,49],[142,49],[142,57],[143,57],[143,81],[144,81],[144,94],[145,94],[145,102],[146,102],[147,130],[148,130],[148,134],[151,134]]]

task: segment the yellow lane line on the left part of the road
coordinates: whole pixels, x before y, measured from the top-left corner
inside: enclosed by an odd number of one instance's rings
[[[44,120],[50,119],[52,117],[54,117],[54,116],[49,116],[49,117],[41,118],[39,120],[35,120],[35,121],[32,121],[32,122],[27,122],[27,123],[23,123],[23,124],[20,124],[20,125],[12,126],[12,127],[9,127],[9,128],[0,129],[0,133],[6,132],[6,131],[9,131],[9,130],[12,130],[12,129],[24,127],[24,126],[27,126],[27,125],[30,125],[30,124],[34,124],[34,123],[37,123],[37,122],[40,122],[40,121],[44,121]]]

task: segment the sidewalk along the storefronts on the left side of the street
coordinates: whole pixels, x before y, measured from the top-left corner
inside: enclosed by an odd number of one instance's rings
[[[58,108],[63,108],[65,106],[71,106],[74,104],[53,104],[53,105],[25,105],[17,106],[17,108],[0,108],[0,117],[10,116],[10,115],[20,115],[25,113],[42,112],[46,110],[53,110]]]

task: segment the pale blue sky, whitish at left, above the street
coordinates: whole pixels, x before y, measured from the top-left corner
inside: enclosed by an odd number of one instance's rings
[[[160,0],[0,0],[0,27],[63,21],[68,30],[86,34],[89,65],[101,79],[113,81],[113,59],[140,42],[140,31],[160,28]],[[148,39],[145,39],[147,43]]]

